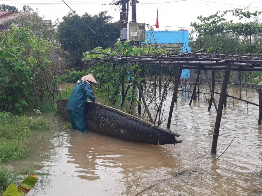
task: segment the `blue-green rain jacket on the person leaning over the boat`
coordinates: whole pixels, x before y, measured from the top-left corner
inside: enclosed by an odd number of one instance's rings
[[[87,98],[95,101],[94,91],[90,84],[87,82],[77,83],[70,95],[66,109],[84,114]]]

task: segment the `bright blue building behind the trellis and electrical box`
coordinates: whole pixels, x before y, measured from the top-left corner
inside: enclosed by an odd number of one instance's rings
[[[146,40],[148,43],[157,43],[160,46],[165,45],[170,49],[180,49],[180,52],[191,52],[189,45],[188,30],[178,31],[146,31]],[[146,42],[141,42],[146,43]],[[188,69],[184,69],[181,78],[190,78]]]

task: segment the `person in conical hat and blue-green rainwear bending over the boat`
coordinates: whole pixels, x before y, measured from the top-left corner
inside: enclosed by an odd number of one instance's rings
[[[77,129],[82,132],[87,131],[86,120],[84,116],[86,100],[89,98],[92,102],[95,102],[92,84],[97,84],[92,74],[88,74],[80,78],[70,95],[66,108],[68,109],[70,122],[73,129]]]

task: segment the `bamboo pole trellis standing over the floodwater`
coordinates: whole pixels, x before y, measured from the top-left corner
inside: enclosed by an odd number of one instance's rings
[[[87,60],[87,62],[111,62],[111,63],[118,63],[121,66],[116,67],[116,69],[121,69],[123,67],[131,66],[131,65],[149,65],[149,66],[155,66],[155,71],[154,71],[154,95],[156,96],[156,89],[157,89],[157,71],[156,71],[156,66],[163,67],[163,66],[171,66],[171,67],[178,67],[178,73],[176,75],[176,83],[174,86],[174,93],[173,93],[173,98],[171,101],[170,105],[170,111],[169,111],[169,117],[168,117],[168,124],[167,128],[170,127],[171,120],[172,120],[172,114],[173,114],[173,108],[174,108],[174,103],[177,102],[177,96],[178,96],[178,84],[179,80],[181,77],[181,73],[183,69],[190,69],[190,70],[198,70],[198,75],[196,82],[194,84],[194,89],[192,92],[192,96],[190,99],[190,105],[192,103],[193,99],[196,99],[196,88],[197,84],[199,83],[199,75],[201,70],[224,70],[224,78],[223,78],[223,83],[222,83],[222,88],[220,97],[219,97],[219,103],[217,109],[217,117],[216,117],[216,123],[215,123],[215,128],[214,128],[214,134],[213,134],[213,143],[212,143],[212,150],[211,153],[216,153],[217,150],[217,140],[218,140],[218,135],[219,135],[219,128],[220,128],[220,122],[222,118],[222,110],[223,107],[226,106],[224,104],[226,102],[226,97],[233,97],[229,96],[226,92],[227,85],[229,83],[229,75],[231,71],[262,71],[262,55],[225,55],[225,54],[205,54],[205,53],[200,53],[203,52],[204,50],[200,51],[195,51],[191,53],[182,53],[178,55],[146,55],[146,56],[121,56],[121,55],[113,55],[113,54],[105,54],[105,53],[97,53],[97,52],[89,52],[89,53],[95,53],[95,54],[102,54],[105,57],[99,57],[96,59],[90,59]],[[223,58],[221,58],[223,57]],[[210,86],[210,95],[211,95],[211,100],[209,104],[209,108],[211,108],[212,102],[214,105],[216,105],[215,100],[213,98],[213,93],[214,92],[214,87],[215,87],[215,80],[214,80],[214,72],[212,75],[212,87],[211,83],[208,77],[208,84]],[[162,90],[162,78],[159,78],[159,90]],[[240,84],[241,85],[241,84]],[[127,89],[128,90],[128,89]],[[183,90],[183,89],[182,89]],[[262,119],[262,89],[257,89],[259,91],[259,104],[254,104],[259,106],[259,121],[258,124],[261,124],[261,119]],[[127,91],[126,91],[127,92]],[[123,94],[123,91],[122,91]],[[125,99],[125,95],[122,95],[122,105],[123,101]],[[148,111],[148,105],[146,101],[144,100],[143,92],[141,89],[139,89],[139,96],[141,96],[145,108]],[[248,102],[247,100],[243,100],[241,98],[233,97],[241,101],[245,101],[246,103],[251,103]],[[141,109],[140,109],[141,110]],[[151,118],[152,121],[152,118]]]

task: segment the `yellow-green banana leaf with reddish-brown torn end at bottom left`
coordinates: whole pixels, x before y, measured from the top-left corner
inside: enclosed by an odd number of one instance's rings
[[[23,196],[27,194],[36,184],[37,180],[37,176],[29,174],[17,187],[19,195]]]

